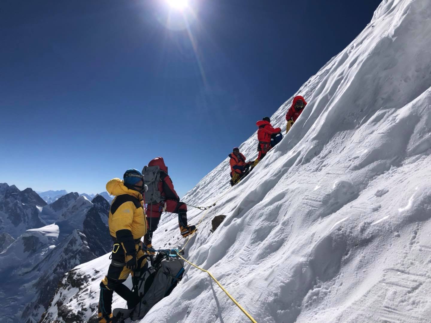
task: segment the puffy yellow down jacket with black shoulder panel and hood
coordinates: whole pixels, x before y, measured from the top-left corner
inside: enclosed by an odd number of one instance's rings
[[[124,181],[118,178],[106,183],[106,191],[116,196],[109,210],[110,234],[117,238],[117,231],[127,229],[131,231],[134,239],[143,237],[147,232],[147,219],[142,207],[142,195],[125,187]]]

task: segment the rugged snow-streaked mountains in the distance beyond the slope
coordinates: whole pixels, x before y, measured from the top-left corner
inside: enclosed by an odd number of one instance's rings
[[[103,193],[43,193],[55,201],[47,204],[31,188],[0,183],[2,323],[40,320],[62,276],[112,248]]]

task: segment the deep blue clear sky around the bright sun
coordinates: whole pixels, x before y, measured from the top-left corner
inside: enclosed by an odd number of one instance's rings
[[[0,182],[98,193],[162,156],[183,195],[380,0],[189,3],[187,30],[166,0],[3,0]]]

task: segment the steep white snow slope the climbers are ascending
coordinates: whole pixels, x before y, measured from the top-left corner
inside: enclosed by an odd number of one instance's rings
[[[191,224],[205,217],[185,256],[257,322],[430,321],[430,34],[429,0],[384,0],[364,31],[296,93],[309,104],[244,181],[229,189],[226,159],[184,197],[194,205],[217,201],[207,213],[188,212]],[[273,125],[285,125],[292,98]],[[255,158],[256,145],[255,133],[240,150]],[[226,219],[211,233],[219,214]],[[176,216],[164,215],[153,245],[181,243]],[[61,301],[43,322],[84,322],[95,313],[107,256],[69,273],[80,277],[79,288],[63,278],[54,297]],[[246,321],[206,273],[188,265],[141,320]]]

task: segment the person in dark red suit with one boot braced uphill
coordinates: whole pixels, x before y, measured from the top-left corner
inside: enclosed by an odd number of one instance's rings
[[[160,216],[162,212],[178,213],[178,224],[180,226],[181,235],[187,237],[196,230],[195,226],[187,225],[187,205],[180,202],[180,198],[174,189],[172,180],[168,175],[168,167],[162,157],[156,157],[148,163],[148,166],[159,166],[160,168],[160,181],[159,192],[162,196],[162,201],[157,204],[147,205],[147,218],[149,229],[145,235],[145,243],[148,248],[151,248],[151,240],[153,239],[153,232],[156,231],[159,225]]]

